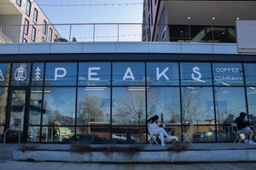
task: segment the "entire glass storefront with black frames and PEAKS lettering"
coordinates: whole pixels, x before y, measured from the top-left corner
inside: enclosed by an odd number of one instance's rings
[[[256,122],[256,59],[217,54],[0,55],[0,133],[22,141],[147,143],[150,116],[182,141],[230,142],[241,111]],[[19,127],[9,132],[18,140]]]

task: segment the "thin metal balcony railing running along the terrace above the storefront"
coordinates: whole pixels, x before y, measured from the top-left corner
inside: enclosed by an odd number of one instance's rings
[[[13,27],[3,26],[3,32]],[[54,42],[56,38],[64,42],[236,42],[234,26],[108,23],[16,27],[21,27],[22,38],[15,39],[22,42]]]

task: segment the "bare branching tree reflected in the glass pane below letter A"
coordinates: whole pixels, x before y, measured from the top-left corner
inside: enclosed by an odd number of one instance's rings
[[[114,120],[114,122],[144,124],[146,118],[145,91],[142,90],[143,88],[129,89],[125,88],[123,95],[119,95],[116,99],[114,117],[120,117],[122,120]]]

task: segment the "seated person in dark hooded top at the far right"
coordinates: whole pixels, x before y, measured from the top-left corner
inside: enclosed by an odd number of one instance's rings
[[[238,132],[246,134],[246,139],[244,142],[246,144],[256,144],[253,142],[253,130],[251,130],[249,127],[247,114],[244,112],[241,112],[240,116],[236,117],[235,122],[237,125]]]

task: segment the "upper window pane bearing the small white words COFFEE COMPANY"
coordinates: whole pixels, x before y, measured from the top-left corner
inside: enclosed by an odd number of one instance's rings
[[[218,86],[241,86],[243,74],[240,63],[213,63],[214,85]]]

